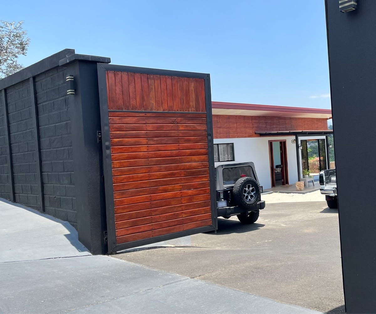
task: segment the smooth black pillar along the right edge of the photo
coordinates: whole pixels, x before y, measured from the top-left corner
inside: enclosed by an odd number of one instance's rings
[[[376,1],[326,10],[346,310],[376,313]]]

